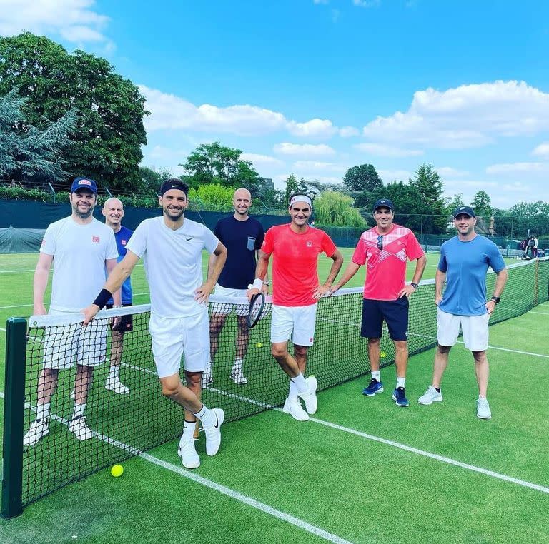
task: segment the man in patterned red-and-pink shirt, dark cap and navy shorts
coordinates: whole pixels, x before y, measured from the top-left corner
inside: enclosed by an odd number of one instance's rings
[[[355,276],[361,265],[367,265],[360,335],[368,338],[372,379],[362,393],[371,397],[383,391],[380,378],[380,340],[385,320],[389,336],[395,343],[397,385],[392,399],[397,406],[409,406],[405,395],[408,298],[419,287],[427,259],[414,233],[409,228],[392,222],[395,207],[390,200],[378,200],[374,204],[373,215],[377,225],[362,233],[349,266],[330,291],[335,293]],[[405,284],[407,259],[416,261],[410,285]]]

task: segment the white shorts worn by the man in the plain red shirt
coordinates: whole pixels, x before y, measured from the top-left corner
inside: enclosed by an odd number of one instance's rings
[[[272,305],[271,342],[286,342],[292,338],[297,346],[312,346],[315,336],[317,304],[307,306]]]

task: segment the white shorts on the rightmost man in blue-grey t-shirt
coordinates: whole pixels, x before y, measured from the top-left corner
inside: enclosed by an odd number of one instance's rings
[[[454,346],[463,333],[465,348],[470,351],[485,351],[488,349],[488,321],[490,314],[482,316],[454,316],[437,309],[437,341],[440,346]]]

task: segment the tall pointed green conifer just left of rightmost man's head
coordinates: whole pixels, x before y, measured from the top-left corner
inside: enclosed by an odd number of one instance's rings
[[[447,212],[442,198],[444,185],[435,168],[431,164],[422,164],[408,184],[414,189],[415,198],[425,205],[432,216],[431,233],[445,232]],[[423,230],[425,231],[425,228]]]

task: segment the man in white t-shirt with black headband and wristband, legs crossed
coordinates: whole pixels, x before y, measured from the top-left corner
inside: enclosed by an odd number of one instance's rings
[[[89,323],[144,258],[151,293],[152,353],[162,394],[185,409],[183,435],[177,453],[186,468],[197,468],[200,459],[194,448],[194,425],[202,420],[206,453],[215,455],[221,444],[223,410],[209,410],[200,402],[200,378],[209,357],[207,300],[227,258],[227,249],[201,223],[184,219],[189,205],[189,187],[178,178],[160,187],[163,216],[145,219],[127,243],[126,256],[109,275],[94,303],[84,309]],[[202,250],[215,256],[207,280],[202,282]],[[185,381],[179,377],[185,356]]]

